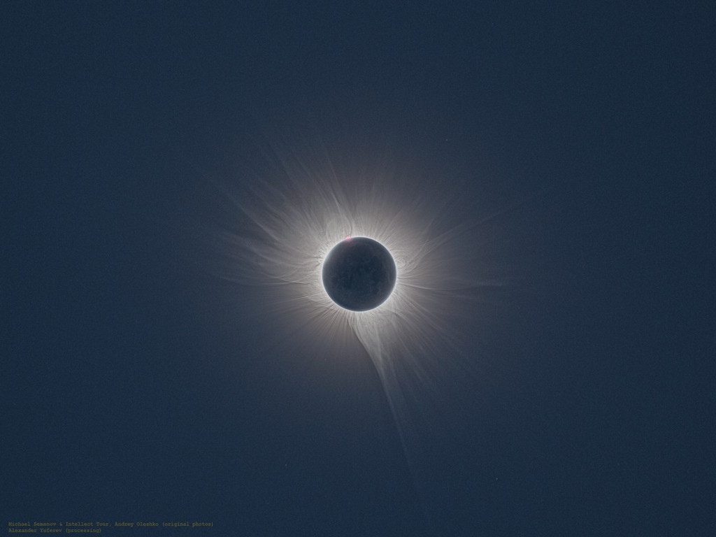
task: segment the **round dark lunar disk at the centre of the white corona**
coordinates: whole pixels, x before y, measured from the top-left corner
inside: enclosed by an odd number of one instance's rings
[[[367,237],[339,242],[323,263],[323,285],[345,309],[367,311],[380,306],[395,287],[395,261],[381,243]]]

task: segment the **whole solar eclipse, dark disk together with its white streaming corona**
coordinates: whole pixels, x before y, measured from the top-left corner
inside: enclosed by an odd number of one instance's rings
[[[502,198],[465,195],[478,179],[448,181],[420,155],[384,156],[380,143],[343,153],[301,135],[266,138],[256,156],[251,147],[218,181],[223,222],[200,233],[202,262],[238,284],[222,298],[251,306],[251,322],[275,334],[249,361],[352,375],[369,359],[418,493],[439,503],[423,472],[441,453],[443,398],[482,394],[473,387],[490,381],[480,336],[502,318],[525,258],[512,246],[524,242],[502,238],[527,223]],[[356,377],[356,390],[372,378]]]

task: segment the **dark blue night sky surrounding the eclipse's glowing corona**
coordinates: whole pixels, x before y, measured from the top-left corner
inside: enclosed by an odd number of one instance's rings
[[[696,5],[3,4],[2,523],[716,534]],[[442,390],[422,485],[362,349],[292,353],[261,289],[202,269],[192,232],[231,218],[212,185],[266,125],[352,165],[390,145],[430,171],[411,192],[500,214],[475,233],[524,277],[455,327],[484,376]]]

